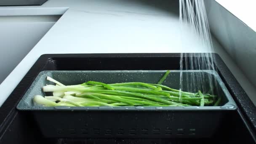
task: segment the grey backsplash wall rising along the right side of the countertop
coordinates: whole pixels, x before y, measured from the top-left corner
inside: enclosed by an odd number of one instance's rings
[[[205,0],[205,6],[211,32],[256,87],[256,32],[215,0]]]

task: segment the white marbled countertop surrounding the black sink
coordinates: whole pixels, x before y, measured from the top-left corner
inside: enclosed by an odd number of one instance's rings
[[[63,16],[1,83],[0,105],[42,54],[209,52],[189,32],[180,38],[176,13],[137,0],[48,0],[42,6],[0,7],[2,16],[18,14]],[[253,96],[254,88],[215,39],[213,46]]]

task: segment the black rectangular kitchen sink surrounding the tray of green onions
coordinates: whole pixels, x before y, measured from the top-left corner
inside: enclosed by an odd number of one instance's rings
[[[40,72],[45,70],[179,70],[180,53],[45,54],[40,56],[0,107],[0,144],[256,144],[256,107],[221,58],[217,54],[214,54],[214,57],[217,72],[235,100],[237,110],[224,112],[225,118],[209,138],[45,137],[31,112],[21,112],[16,109],[21,97]]]

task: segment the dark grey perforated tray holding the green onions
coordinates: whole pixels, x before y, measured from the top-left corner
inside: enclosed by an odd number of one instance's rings
[[[180,72],[184,80],[190,75],[211,75],[221,97],[219,106],[189,107],[42,107],[32,99],[45,95],[46,80],[53,77],[61,83],[76,85],[89,80],[103,83],[143,82],[157,83],[166,70],[106,70],[106,71],[43,71],[37,76],[27,93],[19,102],[19,110],[31,111],[35,115],[42,133],[47,137],[96,137],[96,138],[187,138],[211,137],[224,117],[225,112],[236,110],[219,75],[213,70],[171,70],[163,82],[179,89]],[[196,81],[187,81],[198,85]],[[209,85],[204,80],[203,85]],[[184,83],[185,87],[185,83]],[[186,90],[185,90],[186,91]],[[209,89],[206,89],[209,91]]]

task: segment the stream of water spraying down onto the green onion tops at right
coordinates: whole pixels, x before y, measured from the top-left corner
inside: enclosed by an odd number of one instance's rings
[[[214,50],[211,40],[211,33],[207,19],[207,13],[203,0],[179,0],[179,21],[181,25],[181,46],[186,40],[185,31],[189,28],[200,40],[200,44],[209,53],[181,53],[181,70],[216,70],[214,66]],[[182,35],[183,34],[183,35]],[[183,38],[184,37],[184,38]],[[213,93],[216,81],[213,75],[204,72],[180,73],[180,100],[181,91]]]

